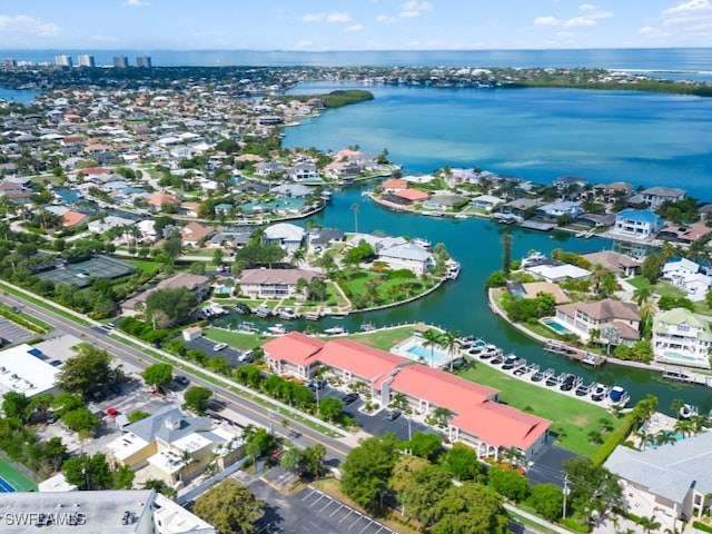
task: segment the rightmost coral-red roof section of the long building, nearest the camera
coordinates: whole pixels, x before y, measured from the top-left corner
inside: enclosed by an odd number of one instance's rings
[[[551,422],[504,404],[485,402],[458,414],[451,425],[495,447],[526,451],[542,437]]]

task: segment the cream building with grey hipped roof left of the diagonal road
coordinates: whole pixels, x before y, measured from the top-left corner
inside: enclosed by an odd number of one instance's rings
[[[224,466],[244,456],[241,438],[210,419],[168,408],[123,427],[107,446],[115,467],[131,471],[148,466],[151,478],[174,486],[186,483],[208,467],[219,455]]]

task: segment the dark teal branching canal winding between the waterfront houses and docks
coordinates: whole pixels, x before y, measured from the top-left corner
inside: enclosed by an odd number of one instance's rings
[[[621,384],[637,400],[646,394],[660,399],[660,409],[671,412],[670,405],[675,398],[694,404],[701,411],[712,408],[712,388],[665,382],[660,373],[635,369],[606,364],[600,369],[585,367],[558,356],[545,353],[536,343],[494,315],[488,307],[485,280],[490,274],[502,268],[502,235],[513,236],[512,257],[521,258],[530,250],[551,254],[554,248],[576,253],[590,253],[611,249],[613,243],[607,239],[576,239],[566,233],[534,233],[516,227],[501,227],[485,219],[446,219],[423,217],[411,214],[388,211],[360,192],[372,185],[352,187],[334,195],[333,204],[320,214],[310,218],[316,224],[353,231],[355,217],[352,206],[358,204],[358,230],[370,233],[387,231],[394,236],[421,237],[433,243],[444,243],[451,255],[462,263],[459,278],[455,283],[446,283],[439,290],[413,304],[395,308],[363,314],[353,314],[344,319],[325,318],[318,323],[308,320],[285,322],[288,329],[303,330],[312,327],[323,330],[332,326],[343,326],[349,332],[358,332],[360,325],[369,323],[375,326],[387,326],[402,323],[425,322],[463,334],[483,337],[490,343],[501,346],[505,352],[513,352],[530,363],[537,363],[542,368],[553,367],[558,373],[574,373],[587,382],[602,382],[609,385]],[[234,314],[229,316],[233,327],[241,320],[256,322],[266,327],[266,320],[255,320]],[[274,322],[273,322],[274,323]]]

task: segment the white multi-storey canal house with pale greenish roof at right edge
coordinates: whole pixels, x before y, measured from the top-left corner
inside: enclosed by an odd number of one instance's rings
[[[689,309],[655,314],[651,343],[655,362],[710,368],[712,330],[706,320]]]

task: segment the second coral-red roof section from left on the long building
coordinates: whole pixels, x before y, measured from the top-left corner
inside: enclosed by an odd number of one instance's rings
[[[396,367],[411,363],[409,359],[367,347],[352,339],[327,342],[318,355],[318,360],[337,369],[348,369],[364,380],[374,380],[375,387],[379,387]]]

